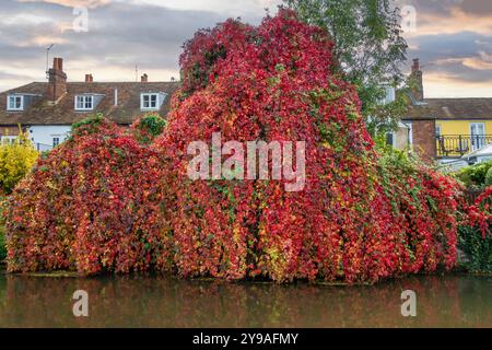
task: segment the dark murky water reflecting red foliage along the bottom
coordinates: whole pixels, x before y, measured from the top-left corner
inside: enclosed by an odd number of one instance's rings
[[[77,290],[89,293],[86,318],[73,316]],[[401,316],[405,290],[417,293],[417,317]],[[492,327],[492,278],[324,287],[0,275],[0,327]]]

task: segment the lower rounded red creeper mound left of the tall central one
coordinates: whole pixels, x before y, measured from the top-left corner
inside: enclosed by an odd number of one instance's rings
[[[155,158],[99,116],[40,159],[10,198],[10,271],[162,266]]]

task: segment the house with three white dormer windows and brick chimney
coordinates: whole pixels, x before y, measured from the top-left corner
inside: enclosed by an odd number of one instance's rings
[[[121,126],[129,126],[148,113],[165,117],[178,82],[68,82],[63,61],[55,58],[47,82],[33,82],[0,93],[0,136],[14,138],[19,125],[30,133],[37,149],[50,149],[70,133],[71,125],[102,113]]]

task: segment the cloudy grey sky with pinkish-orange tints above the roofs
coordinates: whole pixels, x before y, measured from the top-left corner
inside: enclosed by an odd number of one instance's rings
[[[410,60],[420,57],[427,97],[492,97],[492,1],[395,0],[406,12]],[[257,24],[281,0],[2,0],[0,91],[45,80],[46,47],[70,81],[177,78],[183,43],[241,16]],[[87,9],[87,31],[84,12]],[[412,21],[412,20],[415,21]],[[80,31],[82,30],[82,31]]]

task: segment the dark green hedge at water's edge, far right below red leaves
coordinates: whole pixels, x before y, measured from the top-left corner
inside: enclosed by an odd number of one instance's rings
[[[459,248],[466,254],[464,267],[473,273],[492,272],[492,235],[483,237],[477,228],[460,226]]]

